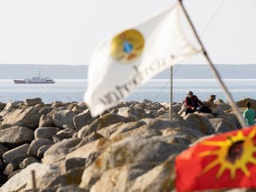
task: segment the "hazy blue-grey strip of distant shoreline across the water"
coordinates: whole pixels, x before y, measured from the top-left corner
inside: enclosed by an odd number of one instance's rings
[[[222,79],[254,79],[256,64],[215,64]],[[41,71],[42,76],[53,79],[86,79],[87,65],[32,65],[1,64],[0,79],[28,78]],[[154,79],[169,79],[170,69],[156,75]],[[211,68],[206,64],[183,64],[173,66],[173,79],[215,79]]]

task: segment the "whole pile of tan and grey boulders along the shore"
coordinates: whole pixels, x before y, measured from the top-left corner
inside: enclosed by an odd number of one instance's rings
[[[171,122],[170,103],[150,100],[94,118],[83,102],[0,102],[0,192],[171,191],[175,156],[204,136],[241,128],[229,104],[216,103],[217,117],[181,117],[176,103]]]

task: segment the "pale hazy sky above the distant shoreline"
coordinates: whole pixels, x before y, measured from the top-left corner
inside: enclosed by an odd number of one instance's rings
[[[175,2],[0,0],[0,64],[88,64],[101,40]],[[183,3],[213,63],[256,63],[255,0]],[[185,61],[194,62],[205,60],[198,55]]]

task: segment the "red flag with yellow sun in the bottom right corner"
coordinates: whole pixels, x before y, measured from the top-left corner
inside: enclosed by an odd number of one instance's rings
[[[176,189],[256,188],[256,126],[198,142],[175,160]]]

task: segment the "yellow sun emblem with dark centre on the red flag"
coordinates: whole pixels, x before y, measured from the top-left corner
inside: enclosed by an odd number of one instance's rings
[[[201,152],[199,156],[216,156],[210,164],[204,167],[202,174],[208,172],[213,167],[219,165],[216,179],[228,170],[231,179],[236,178],[236,171],[241,170],[246,177],[251,176],[248,170],[248,164],[256,164],[256,157],[253,155],[256,152],[255,140],[256,128],[253,128],[248,135],[244,135],[243,131],[236,132],[236,135],[226,136],[226,140],[205,140],[200,144],[205,146],[217,147],[213,150]]]

